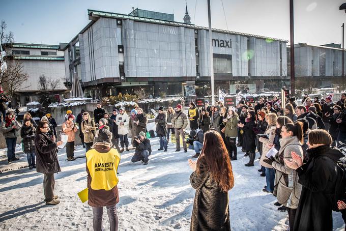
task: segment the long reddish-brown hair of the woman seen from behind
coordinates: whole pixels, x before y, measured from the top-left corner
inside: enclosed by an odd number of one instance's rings
[[[234,186],[232,165],[228,152],[220,133],[210,130],[204,135],[204,144],[201,157],[197,160],[196,171],[199,174],[201,159],[206,162],[207,171],[223,192],[227,192]]]

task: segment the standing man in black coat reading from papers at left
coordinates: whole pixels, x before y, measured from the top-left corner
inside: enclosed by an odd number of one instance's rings
[[[50,138],[46,133],[48,123],[39,122],[37,133],[35,136],[35,152],[36,152],[36,171],[43,174],[43,189],[46,205],[57,205],[58,196],[54,195],[54,173],[61,171],[59,161],[57,160],[57,146],[62,145],[63,141],[57,141],[56,138]]]

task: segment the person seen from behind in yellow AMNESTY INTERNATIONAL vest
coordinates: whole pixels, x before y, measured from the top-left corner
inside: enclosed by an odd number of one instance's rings
[[[93,207],[94,231],[102,230],[103,207],[106,207],[110,230],[118,230],[117,204],[118,166],[120,155],[111,149],[112,134],[109,130],[96,131],[92,149],[86,153],[86,172],[88,173],[88,204]]]

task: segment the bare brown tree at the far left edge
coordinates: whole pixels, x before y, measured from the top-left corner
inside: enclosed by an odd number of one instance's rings
[[[14,92],[24,89],[22,83],[28,79],[24,73],[20,60],[14,60],[12,54],[8,52],[8,43],[13,40],[13,33],[6,31],[6,22],[0,24],[0,84],[2,84],[5,94],[11,99]],[[27,87],[26,87],[27,88]]]

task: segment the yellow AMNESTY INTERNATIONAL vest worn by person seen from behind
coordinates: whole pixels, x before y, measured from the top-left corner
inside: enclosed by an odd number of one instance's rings
[[[91,176],[91,188],[94,190],[110,190],[119,182],[117,170],[120,155],[117,150],[111,149],[107,153],[99,153],[95,149],[86,154],[86,166]]]

